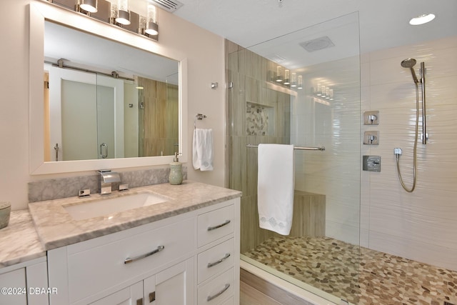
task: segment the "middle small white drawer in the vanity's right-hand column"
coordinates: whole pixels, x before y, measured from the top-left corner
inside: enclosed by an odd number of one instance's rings
[[[233,266],[233,239],[199,254],[199,283]]]

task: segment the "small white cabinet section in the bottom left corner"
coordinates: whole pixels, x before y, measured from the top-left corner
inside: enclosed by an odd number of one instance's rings
[[[48,305],[46,257],[0,269],[0,288],[0,304]]]

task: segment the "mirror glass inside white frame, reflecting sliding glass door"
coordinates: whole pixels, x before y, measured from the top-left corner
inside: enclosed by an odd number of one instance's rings
[[[44,28],[44,161],[179,151],[178,61],[50,21]]]

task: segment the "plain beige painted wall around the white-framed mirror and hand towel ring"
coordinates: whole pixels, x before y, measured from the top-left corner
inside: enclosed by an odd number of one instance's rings
[[[29,175],[29,2],[2,4],[9,14],[0,31],[1,62],[4,71],[8,71],[0,76],[0,201],[11,201],[13,209],[26,208],[29,181],[93,174]],[[214,171],[194,171],[188,164],[188,177],[224,186],[224,39],[166,11],[159,11],[158,22],[159,44],[180,50],[188,59],[189,142],[197,113],[208,116],[199,126],[214,130]],[[213,81],[219,82],[216,90],[210,88]],[[191,143],[188,154],[191,155]]]

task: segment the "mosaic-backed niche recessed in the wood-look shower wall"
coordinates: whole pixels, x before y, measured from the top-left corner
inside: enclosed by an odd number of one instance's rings
[[[246,136],[274,134],[274,108],[251,102],[246,103]]]

